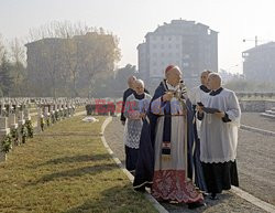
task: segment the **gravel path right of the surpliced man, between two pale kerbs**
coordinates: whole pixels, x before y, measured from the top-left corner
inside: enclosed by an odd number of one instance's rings
[[[240,187],[275,204],[275,137],[239,131],[238,169]]]

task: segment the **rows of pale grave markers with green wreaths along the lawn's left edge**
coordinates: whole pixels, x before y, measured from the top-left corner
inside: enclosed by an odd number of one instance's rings
[[[22,145],[34,131],[73,116],[86,103],[86,98],[0,98],[0,162],[8,158],[9,141],[10,148]],[[30,113],[33,107],[36,113]]]

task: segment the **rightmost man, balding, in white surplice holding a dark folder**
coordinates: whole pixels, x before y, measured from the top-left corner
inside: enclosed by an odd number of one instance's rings
[[[202,120],[200,160],[207,191],[211,199],[217,199],[217,193],[231,189],[231,184],[239,187],[235,158],[241,110],[234,92],[221,87],[218,74],[208,76],[208,88],[211,92],[205,106],[197,106],[198,118]]]

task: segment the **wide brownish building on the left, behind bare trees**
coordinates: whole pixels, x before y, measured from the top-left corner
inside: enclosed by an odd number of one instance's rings
[[[116,65],[116,43],[110,34],[88,32],[67,39],[45,38],[25,46],[33,95],[89,94],[95,75],[112,73]]]

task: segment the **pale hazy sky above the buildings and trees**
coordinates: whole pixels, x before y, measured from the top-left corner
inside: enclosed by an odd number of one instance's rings
[[[242,70],[241,52],[275,41],[275,0],[0,0],[0,34],[24,38],[51,21],[102,26],[120,38],[120,66],[138,64],[139,43],[163,22],[200,22],[219,32],[219,68]]]

